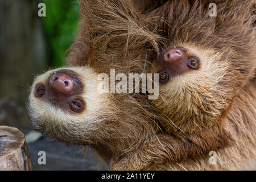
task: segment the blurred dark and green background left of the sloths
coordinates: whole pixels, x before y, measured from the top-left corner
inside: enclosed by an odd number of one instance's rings
[[[39,3],[46,5],[46,17],[38,16]],[[32,131],[27,115],[33,77],[65,65],[78,22],[76,0],[0,0],[0,125],[26,134],[35,170],[106,169],[90,149],[84,155],[81,146],[68,147]],[[46,165],[38,164],[39,151],[46,151]]]

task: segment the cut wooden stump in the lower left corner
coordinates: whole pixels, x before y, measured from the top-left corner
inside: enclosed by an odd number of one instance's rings
[[[0,171],[32,169],[24,134],[14,127],[0,126]]]

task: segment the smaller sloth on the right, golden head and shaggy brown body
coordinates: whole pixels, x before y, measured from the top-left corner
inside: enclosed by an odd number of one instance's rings
[[[159,73],[159,97],[152,102],[170,133],[220,123],[255,77],[255,3],[216,1],[216,17],[208,14],[209,3],[168,1],[146,14],[164,38],[152,59],[151,72]]]

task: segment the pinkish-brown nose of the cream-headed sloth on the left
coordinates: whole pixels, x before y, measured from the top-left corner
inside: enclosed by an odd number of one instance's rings
[[[63,73],[57,73],[51,76],[49,85],[56,94],[68,95],[74,90],[73,80]]]

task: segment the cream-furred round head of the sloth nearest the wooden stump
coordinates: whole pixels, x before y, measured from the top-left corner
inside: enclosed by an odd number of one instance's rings
[[[32,125],[57,141],[86,144],[106,119],[107,94],[97,92],[97,74],[88,67],[60,68],[35,78],[28,111]],[[108,110],[109,112],[109,110]]]

